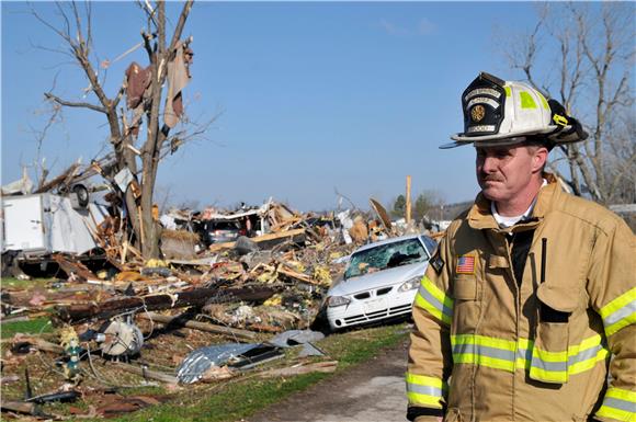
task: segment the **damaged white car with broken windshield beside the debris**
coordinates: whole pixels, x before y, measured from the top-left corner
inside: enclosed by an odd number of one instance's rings
[[[343,280],[327,292],[332,330],[409,315],[436,248],[423,235],[366,244],[351,254]]]

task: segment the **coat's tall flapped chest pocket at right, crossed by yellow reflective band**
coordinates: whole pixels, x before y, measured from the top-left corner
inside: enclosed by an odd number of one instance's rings
[[[532,347],[530,378],[552,384],[568,381],[569,317],[579,296],[549,285],[537,288],[538,318]]]

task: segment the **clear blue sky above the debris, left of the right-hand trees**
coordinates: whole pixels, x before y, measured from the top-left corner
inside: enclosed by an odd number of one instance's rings
[[[88,82],[60,38],[2,2],[2,183],[20,178],[36,156],[43,93],[80,101]],[[53,3],[35,3],[55,21]],[[172,22],[179,7],[168,8]],[[140,41],[144,19],[133,2],[96,2],[94,50],[113,60]],[[337,205],[336,190],[367,209],[402,193],[439,191],[447,203],[477,193],[474,150],[440,150],[462,129],[459,95],[480,70],[509,69],[493,31],[535,23],[524,2],[196,2],[184,35],[195,53],[186,113],[217,116],[205,139],[180,149],[159,170],[156,197],[169,203],[231,206],[269,196],[299,210]],[[43,49],[45,47],[48,49]],[[143,49],[112,62],[113,96],[125,68],[146,66]],[[55,82],[54,82],[55,80]],[[87,100],[87,99],[83,99]],[[88,98],[90,100],[90,96]],[[47,133],[42,156],[56,175],[105,151],[105,118],[67,109]]]

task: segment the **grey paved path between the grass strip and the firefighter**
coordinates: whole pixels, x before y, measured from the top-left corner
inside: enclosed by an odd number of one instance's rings
[[[326,379],[246,422],[405,422],[407,342]]]

